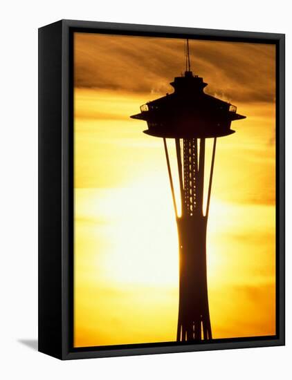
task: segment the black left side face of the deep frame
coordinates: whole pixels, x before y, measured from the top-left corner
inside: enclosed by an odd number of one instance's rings
[[[62,23],[39,28],[39,351],[61,358]]]

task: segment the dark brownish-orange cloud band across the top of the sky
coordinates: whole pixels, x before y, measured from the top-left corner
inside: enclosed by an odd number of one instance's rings
[[[210,85],[207,93],[231,102],[273,102],[275,46],[190,41],[192,70]],[[184,40],[75,35],[75,86],[134,93],[171,92],[184,70]]]

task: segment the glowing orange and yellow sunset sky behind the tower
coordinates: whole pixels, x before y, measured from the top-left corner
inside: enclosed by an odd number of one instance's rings
[[[184,46],[75,33],[75,347],[176,339],[179,249],[163,140],[129,116],[172,93]],[[190,52],[205,92],[246,115],[217,140],[207,232],[213,338],[273,335],[275,46],[190,40]],[[208,168],[211,142],[206,149]]]

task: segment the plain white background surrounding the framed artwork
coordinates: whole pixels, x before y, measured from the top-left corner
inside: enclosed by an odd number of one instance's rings
[[[286,347],[58,361],[37,339],[37,28],[59,19],[286,33],[290,1],[9,1],[0,33],[1,379],[291,379],[291,216],[287,216]],[[250,84],[253,86],[253,84]],[[291,209],[291,93],[286,92],[286,211]],[[290,277],[290,278],[289,278]]]

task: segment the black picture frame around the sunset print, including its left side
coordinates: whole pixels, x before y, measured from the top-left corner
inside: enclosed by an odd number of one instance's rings
[[[276,335],[212,343],[73,348],[73,32],[246,41],[276,46]],[[285,343],[285,35],[61,20],[39,28],[39,351],[58,359],[251,348]]]

